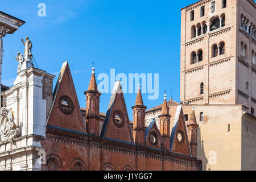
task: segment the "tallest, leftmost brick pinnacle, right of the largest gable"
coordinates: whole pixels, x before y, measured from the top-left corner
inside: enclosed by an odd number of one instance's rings
[[[98,92],[95,69],[92,68],[92,77],[88,90],[84,93],[86,96],[86,131],[88,134],[100,136],[100,96]]]

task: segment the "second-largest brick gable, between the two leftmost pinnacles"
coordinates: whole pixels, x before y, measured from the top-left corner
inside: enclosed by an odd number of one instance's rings
[[[101,137],[134,143],[120,81],[114,84]]]

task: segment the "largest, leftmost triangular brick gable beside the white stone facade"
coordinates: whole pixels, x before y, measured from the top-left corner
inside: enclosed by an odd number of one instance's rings
[[[68,61],[65,61],[61,67],[53,93],[53,104],[47,119],[47,126],[86,133]]]

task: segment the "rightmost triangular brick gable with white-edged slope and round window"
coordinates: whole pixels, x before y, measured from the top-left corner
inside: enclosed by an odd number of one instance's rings
[[[170,150],[180,154],[191,156],[188,142],[188,134],[185,125],[185,119],[182,106],[177,106],[175,113],[174,125],[171,131]]]

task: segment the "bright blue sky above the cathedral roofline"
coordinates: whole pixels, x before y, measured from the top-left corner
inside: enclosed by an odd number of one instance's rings
[[[99,73],[159,73],[159,98],[148,100],[150,109],[163,102],[164,89],[180,101],[180,9],[187,1],[6,0],[0,11],[26,21],[13,35],[3,38],[2,83],[12,86],[18,64],[16,52],[23,53],[20,39],[29,36],[32,53],[40,69],[56,75],[69,60],[80,106],[85,107],[92,61]],[[38,4],[46,4],[46,17],[38,16]],[[55,86],[55,85],[53,85]],[[129,119],[136,93],[125,94]],[[102,94],[100,111],[106,113],[109,94]]]

